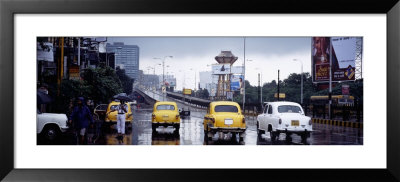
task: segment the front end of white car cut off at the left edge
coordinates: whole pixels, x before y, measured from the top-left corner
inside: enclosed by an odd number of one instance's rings
[[[37,134],[53,141],[68,129],[68,118],[65,114],[37,112]]]

